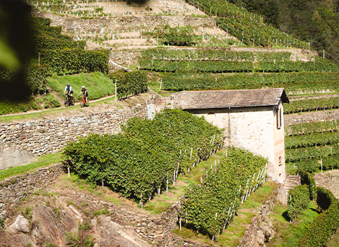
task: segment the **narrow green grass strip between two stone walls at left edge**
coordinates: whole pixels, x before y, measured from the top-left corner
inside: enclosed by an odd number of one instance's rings
[[[8,178],[9,176],[14,176],[18,174],[23,174],[28,171],[32,171],[37,168],[47,167],[50,164],[57,164],[62,162],[62,154],[61,152],[57,152],[56,154],[48,154],[42,155],[37,158],[36,162],[32,162],[30,164],[26,164],[18,167],[9,167],[6,170],[0,171],[0,181]]]

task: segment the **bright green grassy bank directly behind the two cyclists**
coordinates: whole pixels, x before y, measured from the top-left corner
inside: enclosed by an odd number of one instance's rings
[[[47,78],[47,85],[51,87],[60,97],[64,97],[64,89],[66,84],[70,83],[73,89],[73,96],[76,101],[80,101],[78,97],[81,87],[84,85],[88,89],[88,98],[90,100],[100,99],[107,95],[114,95],[114,84],[103,73],[80,73],[71,76],[52,76]]]

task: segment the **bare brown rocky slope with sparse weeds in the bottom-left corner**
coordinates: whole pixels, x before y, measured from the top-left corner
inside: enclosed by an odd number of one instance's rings
[[[122,207],[133,209],[133,203],[123,198],[119,202],[124,205],[109,202],[118,197],[61,176],[12,208],[0,231],[0,246],[87,246],[86,239],[95,246],[150,246],[119,213]]]

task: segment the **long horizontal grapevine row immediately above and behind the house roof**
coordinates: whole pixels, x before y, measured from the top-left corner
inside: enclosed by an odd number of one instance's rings
[[[339,90],[339,73],[237,73],[232,75],[188,72],[162,74],[165,90],[285,88],[288,94]],[[286,104],[287,105],[287,104]],[[287,105],[288,107],[288,105]]]

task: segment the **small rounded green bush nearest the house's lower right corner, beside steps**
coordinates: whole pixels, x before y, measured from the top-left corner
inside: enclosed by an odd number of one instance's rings
[[[299,185],[288,192],[287,216],[295,219],[309,206],[309,186]]]

